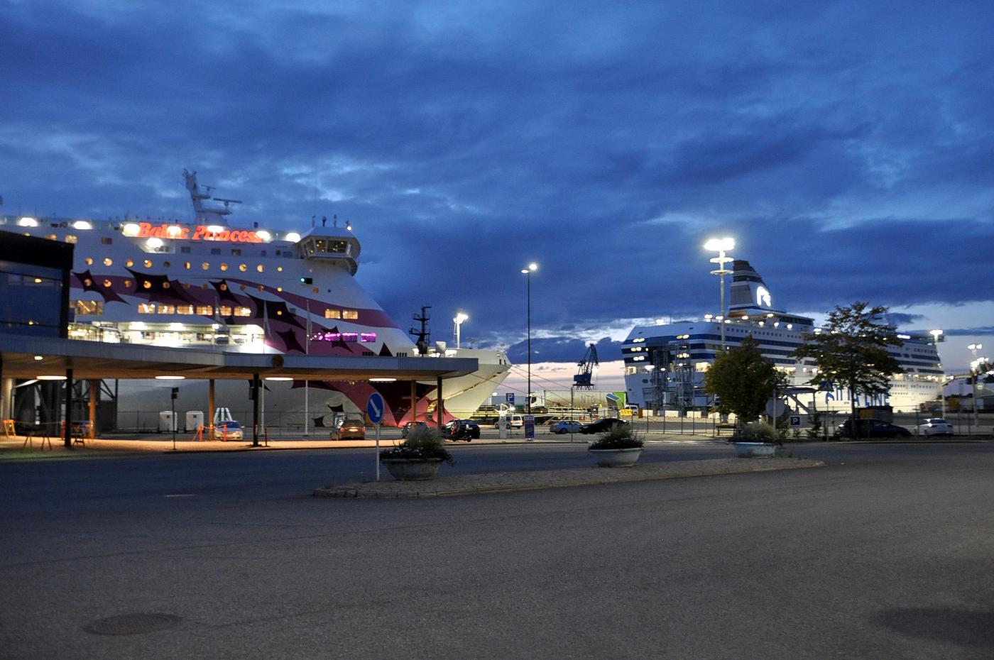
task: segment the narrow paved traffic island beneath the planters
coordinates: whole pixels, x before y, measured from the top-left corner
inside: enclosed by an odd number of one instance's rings
[[[651,481],[740,472],[768,472],[824,467],[820,460],[802,458],[718,458],[636,464],[631,467],[581,467],[567,470],[484,472],[435,477],[429,481],[394,481],[386,470],[383,480],[318,488],[317,497],[445,497],[539,488],[588,486],[626,481]],[[445,465],[441,466],[446,469]]]

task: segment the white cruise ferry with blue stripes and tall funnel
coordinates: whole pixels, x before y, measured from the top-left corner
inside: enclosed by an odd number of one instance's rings
[[[721,352],[722,325],[727,348],[751,337],[763,356],[788,376],[791,408],[805,413],[850,410],[848,389],[827,381],[812,385],[818,374],[814,361],[791,357],[805,333],[821,331],[814,319],[774,307],[765,282],[748,261],[739,259],[733,265],[727,319],[705,314],[703,320],[638,326],[628,334],[621,345],[628,403],[653,410],[708,406],[705,375]],[[910,413],[939,398],[942,365],[935,338],[898,337],[903,345],[891,346],[888,352],[903,371],[891,376],[888,393],[860,396],[857,406],[890,406],[895,412]]]

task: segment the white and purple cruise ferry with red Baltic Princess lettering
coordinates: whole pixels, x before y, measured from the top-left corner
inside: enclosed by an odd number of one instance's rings
[[[349,223],[312,218],[304,232],[236,227],[228,220],[239,200],[213,196],[196,172],[184,170],[183,177],[193,222],[0,217],[0,230],[75,244],[71,338],[226,352],[475,358],[477,372],[445,381],[445,418],[475,412],[507,376],[511,365],[499,352],[442,342],[418,348],[356,280],[361,246]],[[178,411],[204,408],[206,384],[191,385]],[[434,415],[435,385],[417,384],[418,418]],[[117,410],[168,410],[169,391],[152,386],[125,385]],[[246,384],[219,381],[217,389],[219,406],[250,407]],[[365,410],[374,389],[387,402],[384,423],[412,418],[409,382],[266,389],[271,411],[309,410],[305,428],[323,425],[324,413]]]

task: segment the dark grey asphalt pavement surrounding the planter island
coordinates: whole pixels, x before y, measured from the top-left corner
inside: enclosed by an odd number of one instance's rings
[[[427,500],[305,491],[362,449],[0,461],[0,657],[994,657],[994,445],[788,450],[826,467]]]

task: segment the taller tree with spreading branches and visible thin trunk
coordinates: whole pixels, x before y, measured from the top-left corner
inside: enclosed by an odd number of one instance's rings
[[[821,332],[804,335],[804,344],[794,351],[795,359],[814,358],[818,373],[809,383],[833,381],[849,389],[853,434],[856,433],[856,397],[879,395],[890,389],[891,375],[901,364],[888,355],[888,346],[904,344],[896,328],[880,321],[887,307],[867,308],[867,302],[836,306],[828,313]]]

